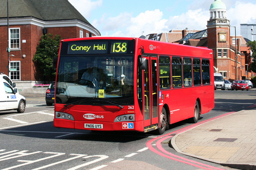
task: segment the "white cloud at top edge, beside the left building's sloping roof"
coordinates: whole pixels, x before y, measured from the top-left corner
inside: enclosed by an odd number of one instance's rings
[[[97,8],[102,6],[102,0],[68,0],[71,4],[75,4],[74,7],[80,14],[83,15],[84,18],[90,18],[91,12]]]

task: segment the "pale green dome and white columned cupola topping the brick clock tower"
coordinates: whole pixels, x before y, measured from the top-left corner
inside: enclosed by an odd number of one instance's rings
[[[226,19],[226,5],[221,0],[215,0],[210,7],[210,20]]]

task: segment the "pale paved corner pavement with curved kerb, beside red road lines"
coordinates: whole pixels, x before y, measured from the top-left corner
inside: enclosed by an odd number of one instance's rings
[[[256,170],[256,110],[230,112],[197,124],[171,139],[177,152],[222,166]]]

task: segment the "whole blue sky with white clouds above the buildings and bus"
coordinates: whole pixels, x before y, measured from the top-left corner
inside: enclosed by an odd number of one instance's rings
[[[102,36],[139,37],[172,29],[207,29],[214,0],[69,0]],[[256,0],[222,0],[227,19],[240,34],[240,24],[256,24]],[[235,35],[234,28],[230,34]]]

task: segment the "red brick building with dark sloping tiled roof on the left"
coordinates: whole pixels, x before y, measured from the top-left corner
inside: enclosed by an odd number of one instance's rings
[[[32,59],[40,37],[45,33],[58,34],[63,39],[100,36],[100,32],[68,0],[1,0],[0,72],[9,74],[11,80],[19,83],[41,81],[37,74],[39,67]]]

